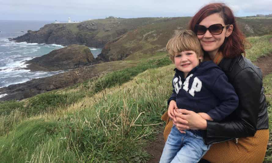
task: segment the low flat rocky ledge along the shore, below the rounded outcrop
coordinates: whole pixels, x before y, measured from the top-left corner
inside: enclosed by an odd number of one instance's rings
[[[94,66],[90,65],[45,78],[9,85],[8,87],[0,88],[1,95],[7,94],[0,98],[0,101],[22,100],[54,89],[72,86],[98,75],[99,73],[94,71]]]

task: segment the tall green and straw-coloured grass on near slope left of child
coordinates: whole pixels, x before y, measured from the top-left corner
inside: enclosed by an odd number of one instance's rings
[[[172,65],[149,69],[120,87],[83,98],[80,103],[85,105],[81,110],[69,111],[68,107],[66,116],[59,119],[23,121],[9,136],[0,138],[0,160],[147,161],[150,156],[139,149],[144,147],[146,138],[154,136],[156,124],[161,122],[171,93],[172,70]]]

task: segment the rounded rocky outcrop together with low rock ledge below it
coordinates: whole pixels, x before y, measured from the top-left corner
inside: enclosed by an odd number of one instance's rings
[[[22,100],[54,89],[65,88],[99,75],[94,65],[101,63],[94,58],[90,49],[84,45],[69,45],[27,61],[31,71],[69,70],[45,78],[32,79],[24,83],[0,88],[0,101]],[[7,94],[7,95],[6,95]],[[6,96],[3,96],[6,95]]]

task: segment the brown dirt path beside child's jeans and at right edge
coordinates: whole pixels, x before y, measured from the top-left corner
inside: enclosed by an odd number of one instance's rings
[[[269,40],[272,43],[272,38]],[[272,53],[267,56],[262,56],[258,58],[254,64],[261,68],[263,76],[272,73]],[[163,137],[164,126],[160,126],[160,132],[156,137],[155,141],[151,142],[150,145],[146,148],[147,152],[153,156],[148,163],[158,163],[160,161],[160,156],[164,148],[164,137]]]

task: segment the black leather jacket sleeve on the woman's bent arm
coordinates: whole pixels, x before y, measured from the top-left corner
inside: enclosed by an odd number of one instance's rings
[[[232,113],[235,118],[221,122],[207,121],[207,138],[248,137],[256,132],[262,79],[248,67],[235,76],[232,85],[239,97],[239,106]]]

